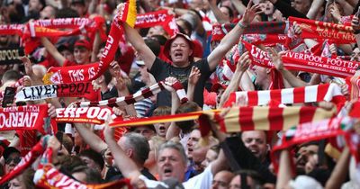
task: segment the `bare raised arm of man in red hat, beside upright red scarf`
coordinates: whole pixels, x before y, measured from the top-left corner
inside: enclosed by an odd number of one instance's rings
[[[125,23],[125,35],[126,35],[126,39],[130,41],[131,45],[138,52],[140,58],[144,60],[145,66],[148,68],[148,70],[150,70],[156,58],[155,54],[151,51],[151,49],[148,48],[148,45],[145,44],[145,41],[139,35],[139,32],[131,28],[126,23]]]

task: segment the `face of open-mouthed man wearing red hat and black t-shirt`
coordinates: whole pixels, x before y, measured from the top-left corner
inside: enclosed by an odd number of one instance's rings
[[[170,57],[177,67],[186,67],[189,57],[193,54],[190,45],[183,37],[177,37],[170,46]]]

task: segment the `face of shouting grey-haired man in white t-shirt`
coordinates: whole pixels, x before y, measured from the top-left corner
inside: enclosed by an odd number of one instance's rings
[[[173,177],[179,182],[184,181],[186,163],[180,152],[175,148],[164,148],[159,152],[157,159],[157,173],[160,180]]]

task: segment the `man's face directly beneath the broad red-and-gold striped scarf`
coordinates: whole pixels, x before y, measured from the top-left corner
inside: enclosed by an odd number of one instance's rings
[[[241,135],[241,139],[245,146],[250,149],[257,158],[264,160],[267,152],[266,134],[264,131],[244,131]]]

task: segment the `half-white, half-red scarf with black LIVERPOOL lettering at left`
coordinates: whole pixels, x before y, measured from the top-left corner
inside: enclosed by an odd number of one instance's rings
[[[96,101],[99,100],[99,93],[99,90],[94,91],[94,87],[90,82],[35,85],[23,87],[23,89],[15,95],[15,102],[45,100],[56,97],[85,97],[90,101]]]

